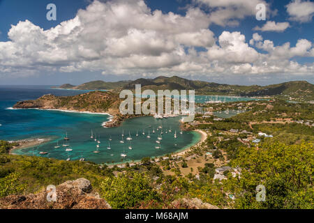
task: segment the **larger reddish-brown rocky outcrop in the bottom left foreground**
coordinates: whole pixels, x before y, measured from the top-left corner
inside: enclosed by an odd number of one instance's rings
[[[56,187],[57,201],[47,201],[48,191],[28,195],[11,195],[0,199],[2,209],[111,209],[93,192],[85,178],[68,180]],[[48,196],[49,197],[49,196]]]

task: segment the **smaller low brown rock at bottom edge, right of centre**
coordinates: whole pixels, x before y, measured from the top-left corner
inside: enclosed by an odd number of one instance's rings
[[[172,207],[174,209],[219,209],[217,206],[210,203],[204,203],[198,198],[193,199],[177,199],[172,201]]]

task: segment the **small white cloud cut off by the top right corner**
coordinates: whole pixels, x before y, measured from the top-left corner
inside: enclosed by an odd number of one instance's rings
[[[313,18],[314,2],[312,1],[294,0],[285,7],[292,21],[311,22]]]

